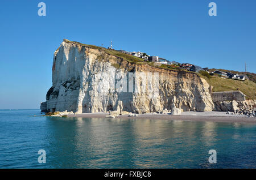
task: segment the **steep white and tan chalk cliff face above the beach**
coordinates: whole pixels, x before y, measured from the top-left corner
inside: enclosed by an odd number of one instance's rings
[[[100,48],[64,40],[53,57],[47,110],[147,113],[176,107],[211,111],[214,105],[208,89],[209,84],[195,73],[129,62]]]

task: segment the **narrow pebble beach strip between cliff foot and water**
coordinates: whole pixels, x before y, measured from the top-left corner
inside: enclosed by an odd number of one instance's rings
[[[108,113],[82,113],[68,114],[68,117],[77,118],[111,118],[106,117]],[[239,123],[256,123],[256,117],[245,117],[245,115],[230,115],[226,112],[183,112],[181,115],[171,114],[137,114],[137,117],[128,117],[128,115],[118,115],[115,118],[121,119],[163,119],[177,121],[201,121],[201,122],[239,122]],[[114,118],[112,118],[114,119]]]

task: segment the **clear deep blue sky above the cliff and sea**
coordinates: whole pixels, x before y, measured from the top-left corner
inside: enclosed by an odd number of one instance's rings
[[[38,3],[46,16],[38,16]],[[209,3],[217,16],[209,16]],[[0,109],[39,108],[63,38],[256,73],[256,1],[13,1],[0,6]]]

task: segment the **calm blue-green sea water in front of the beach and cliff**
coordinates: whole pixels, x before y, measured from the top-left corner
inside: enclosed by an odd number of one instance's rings
[[[0,110],[0,168],[256,168],[256,123],[40,115]]]

